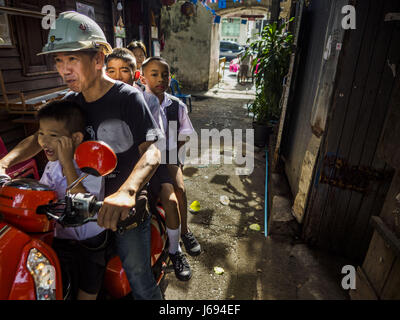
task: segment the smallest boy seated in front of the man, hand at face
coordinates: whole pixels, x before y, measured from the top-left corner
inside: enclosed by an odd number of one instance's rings
[[[40,182],[64,199],[67,186],[81,175],[74,152],[84,137],[84,114],[76,103],[61,100],[43,106],[37,117],[38,143],[49,160]],[[103,185],[102,177],[89,175],[71,193],[90,192],[102,200]],[[74,228],[56,224],[53,248],[60,260],[63,280],[73,281],[73,298],[96,299],[106,269],[107,238],[108,233],[96,222]]]

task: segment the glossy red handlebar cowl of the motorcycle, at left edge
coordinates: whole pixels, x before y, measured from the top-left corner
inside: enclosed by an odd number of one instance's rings
[[[54,221],[37,214],[40,205],[57,201],[55,191],[25,190],[10,186],[0,189],[0,213],[4,220],[25,232],[48,232],[54,229]]]

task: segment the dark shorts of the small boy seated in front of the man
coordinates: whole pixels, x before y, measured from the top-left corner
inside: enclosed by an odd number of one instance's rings
[[[71,282],[72,299],[78,289],[90,294],[99,292],[113,249],[110,230],[82,241],[54,238],[53,248],[60,260],[64,291]]]

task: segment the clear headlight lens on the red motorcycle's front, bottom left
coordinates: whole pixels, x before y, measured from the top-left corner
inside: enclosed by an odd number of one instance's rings
[[[56,299],[56,270],[46,256],[38,249],[29,251],[26,266],[31,273],[36,287],[38,300]]]

